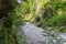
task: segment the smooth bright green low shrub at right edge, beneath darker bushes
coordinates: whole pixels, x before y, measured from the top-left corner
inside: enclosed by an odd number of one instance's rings
[[[54,26],[63,26],[66,25],[66,14],[54,16],[50,20],[51,24]]]

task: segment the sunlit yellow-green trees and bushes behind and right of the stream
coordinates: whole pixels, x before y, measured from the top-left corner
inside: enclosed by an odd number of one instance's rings
[[[28,0],[24,4],[26,7],[25,21],[36,23],[37,26],[66,32],[65,0]]]

